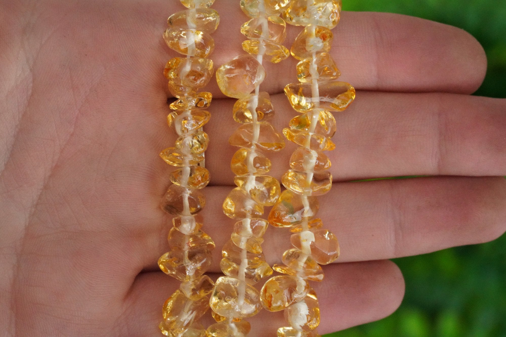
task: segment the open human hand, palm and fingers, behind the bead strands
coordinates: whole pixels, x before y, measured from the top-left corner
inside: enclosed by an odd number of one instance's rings
[[[217,1],[215,69],[243,53],[247,18]],[[175,134],[165,118],[161,38],[166,0],[0,0],[0,331],[16,336],[158,336],[161,306],[179,286],[156,260],[171,218],[159,208],[169,180],[158,152]],[[290,45],[300,27],[288,27]],[[357,99],[336,113],[334,185],[320,215],[338,235],[339,263],[313,282],[320,333],[383,318],[400,304],[390,258],[492,240],[506,230],[506,101],[472,97],[486,59],[468,33],[394,14],[343,12],[331,54]],[[282,88],[296,60],[266,64],[278,129],[294,116]],[[203,228],[213,272],[232,223],[227,137],[234,100],[213,80]],[[278,179],[294,146],[273,160]],[[349,182],[430,175],[431,177]],[[269,263],[289,232],[269,228]],[[217,274],[213,275],[214,277]],[[204,322],[209,323],[208,317]],[[282,313],[249,319],[272,336]]]

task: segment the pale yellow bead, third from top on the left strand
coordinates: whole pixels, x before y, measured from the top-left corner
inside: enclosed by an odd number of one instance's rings
[[[165,43],[179,54],[206,58],[215,49],[215,40],[196,29],[168,28],[163,32]]]

